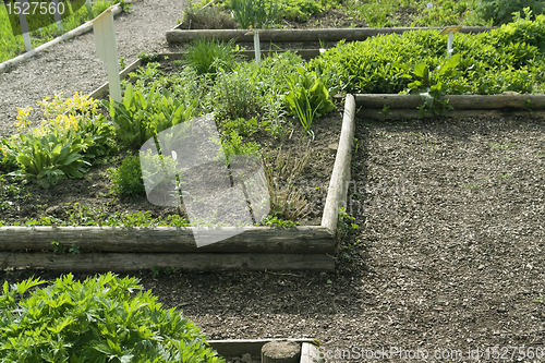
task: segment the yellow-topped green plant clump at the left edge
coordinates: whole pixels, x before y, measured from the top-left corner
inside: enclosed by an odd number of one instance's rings
[[[36,180],[41,187],[60,179],[82,178],[96,156],[111,152],[113,128],[98,113],[98,102],[77,93],[38,102],[45,119],[28,128],[32,108],[19,109],[19,133],[0,142],[1,165],[10,176]]]

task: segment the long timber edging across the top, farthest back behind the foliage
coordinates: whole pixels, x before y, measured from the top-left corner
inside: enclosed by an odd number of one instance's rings
[[[235,39],[238,43],[254,41],[253,35],[244,35],[249,31],[243,29],[195,29],[182,31],[178,25],[167,32],[168,43],[193,41],[201,38],[216,38],[229,41]],[[491,26],[464,26],[460,33],[483,33],[497,28]],[[440,31],[443,27],[362,27],[362,28],[320,28],[320,29],[264,29],[259,33],[261,41],[348,41],[365,40],[379,34],[402,34],[419,29]]]

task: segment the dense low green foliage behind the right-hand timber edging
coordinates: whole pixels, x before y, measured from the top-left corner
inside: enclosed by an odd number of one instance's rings
[[[447,94],[497,94],[506,90],[531,93],[543,75],[543,34],[545,15],[514,22],[481,34],[456,34],[453,55],[460,56],[456,76],[447,73],[437,80]],[[446,38],[435,31],[414,31],[368,38],[365,41],[339,44],[322,57],[311,60],[306,69],[329,71],[338,75],[336,85],[353,93],[405,92],[411,77],[405,64],[424,64],[440,69],[448,62]]]

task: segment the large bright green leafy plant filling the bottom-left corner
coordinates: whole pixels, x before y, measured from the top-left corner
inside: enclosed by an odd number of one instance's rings
[[[193,322],[162,308],[134,277],[80,282],[69,274],[31,291],[43,283],[3,283],[2,362],[225,362]]]

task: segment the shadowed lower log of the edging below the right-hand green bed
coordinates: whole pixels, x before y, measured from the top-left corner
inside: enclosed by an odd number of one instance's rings
[[[419,110],[416,109],[392,109],[386,113],[379,109],[363,109],[360,114],[366,119],[373,120],[407,120],[417,119]],[[492,116],[525,116],[534,118],[545,118],[545,111],[512,111],[512,110],[450,110],[441,113],[444,117],[465,118],[465,117],[492,117]],[[431,112],[425,112],[422,118],[431,119],[437,116]]]

